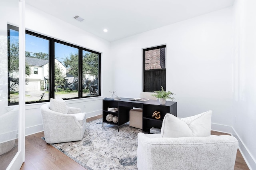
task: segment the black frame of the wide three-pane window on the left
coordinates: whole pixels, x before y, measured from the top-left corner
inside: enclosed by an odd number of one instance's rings
[[[8,27],[8,37],[10,37],[10,29],[18,31],[18,27],[12,26],[10,24],[7,24]],[[74,45],[72,43],[67,43],[61,40],[57,40],[54,38],[50,38],[48,36],[44,36],[42,34],[38,34],[29,30],[26,30],[26,34],[30,34],[32,36],[36,36],[38,38],[43,38],[46,40],[49,40],[49,89],[48,89],[48,94],[49,94],[49,99],[48,100],[43,100],[43,101],[28,101],[26,104],[31,104],[31,103],[43,103],[43,102],[49,102],[50,98],[55,98],[54,94],[54,59],[55,59],[55,46],[54,43],[62,43],[64,45],[68,45],[71,47],[78,48],[78,97],[73,97],[73,98],[64,98],[64,100],[68,99],[83,99],[83,98],[90,98],[90,97],[98,97],[101,96],[101,53],[97,51],[93,51],[91,49],[86,49],[85,47],[81,47],[78,45]],[[9,41],[9,40],[8,40]],[[82,51],[88,51],[91,53],[96,53],[98,54],[98,95],[93,95],[93,96],[84,96],[82,95],[82,57],[83,53]],[[10,67],[10,45],[8,45],[8,67]],[[18,105],[18,102],[16,103],[10,103],[10,77],[8,73],[8,105]]]

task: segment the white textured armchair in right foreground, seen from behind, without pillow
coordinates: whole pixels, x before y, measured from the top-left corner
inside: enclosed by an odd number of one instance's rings
[[[233,136],[161,138],[138,133],[138,170],[234,170]]]

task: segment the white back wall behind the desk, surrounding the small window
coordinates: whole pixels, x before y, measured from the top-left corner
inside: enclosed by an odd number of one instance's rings
[[[117,94],[138,97],[142,49],[166,44],[166,89],[178,117],[212,110],[213,123],[231,126],[232,19],[226,8],[111,43]]]

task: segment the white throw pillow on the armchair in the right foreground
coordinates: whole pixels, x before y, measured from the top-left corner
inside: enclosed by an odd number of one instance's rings
[[[167,113],[164,117],[161,137],[206,137],[210,136],[212,111],[179,119]]]

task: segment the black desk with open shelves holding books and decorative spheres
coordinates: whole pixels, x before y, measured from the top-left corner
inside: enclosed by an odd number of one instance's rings
[[[131,101],[130,98],[121,98],[121,100],[111,100],[103,99],[102,104],[102,127],[104,123],[115,125],[118,127],[129,121],[129,111],[133,107],[143,109],[143,119],[142,119],[142,131],[150,132],[150,128],[161,128],[164,116],[166,113],[171,113],[174,116],[177,116],[177,102],[166,101],[165,105],[160,105],[158,100],[148,100],[148,101]],[[118,108],[117,112],[108,111],[108,107]],[[160,112],[161,118],[156,119],[152,117],[153,112]],[[108,122],[106,116],[112,114],[113,116],[118,117],[118,122]]]

